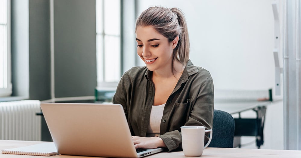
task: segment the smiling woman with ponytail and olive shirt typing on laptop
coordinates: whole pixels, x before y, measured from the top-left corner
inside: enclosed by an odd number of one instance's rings
[[[181,126],[212,129],[212,77],[189,60],[187,24],[178,8],[142,12],[136,41],[146,66],[124,73],[113,103],[123,106],[136,148],[182,150]]]

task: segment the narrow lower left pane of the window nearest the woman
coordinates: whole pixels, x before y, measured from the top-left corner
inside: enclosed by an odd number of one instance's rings
[[[96,57],[97,57],[97,82],[103,82],[103,53],[102,36],[96,35]]]

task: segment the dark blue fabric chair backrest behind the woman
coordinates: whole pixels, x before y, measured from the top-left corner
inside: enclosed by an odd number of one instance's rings
[[[221,110],[213,112],[212,140],[208,147],[233,147],[234,119]]]

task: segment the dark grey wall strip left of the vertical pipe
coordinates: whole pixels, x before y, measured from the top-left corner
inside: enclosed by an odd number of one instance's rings
[[[29,0],[29,97],[50,96],[50,14],[48,0]]]

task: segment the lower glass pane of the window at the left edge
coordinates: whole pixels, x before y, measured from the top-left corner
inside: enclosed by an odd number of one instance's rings
[[[6,68],[6,33],[5,26],[0,25],[0,88],[4,88],[4,81],[6,80],[6,74],[4,69]]]

